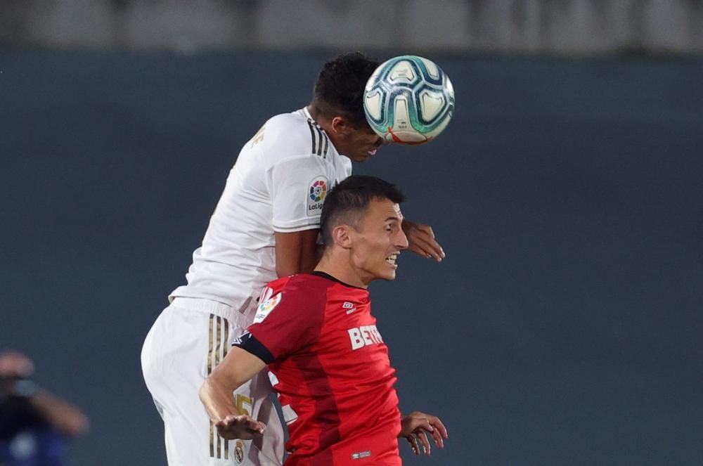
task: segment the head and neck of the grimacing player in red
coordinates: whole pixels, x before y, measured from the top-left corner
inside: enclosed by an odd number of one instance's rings
[[[408,247],[400,204],[405,196],[374,176],[349,176],[325,198],[318,270],[360,287],[394,280],[398,254]]]

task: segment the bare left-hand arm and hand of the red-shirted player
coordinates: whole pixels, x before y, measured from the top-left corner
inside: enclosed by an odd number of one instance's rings
[[[265,366],[257,356],[233,347],[200,387],[200,401],[223,439],[254,439],[264,433],[262,422],[239,410],[233,391]]]

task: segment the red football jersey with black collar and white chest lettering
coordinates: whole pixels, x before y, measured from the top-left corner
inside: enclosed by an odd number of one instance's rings
[[[395,370],[368,290],[318,272],[274,280],[234,344],[269,364],[287,466],[401,465]]]

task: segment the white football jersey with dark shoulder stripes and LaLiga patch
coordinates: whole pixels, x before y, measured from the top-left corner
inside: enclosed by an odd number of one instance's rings
[[[269,119],[239,153],[193,252],[188,285],[169,296],[212,299],[240,310],[276,276],[273,232],[320,227],[328,190],[352,174],[306,108]]]

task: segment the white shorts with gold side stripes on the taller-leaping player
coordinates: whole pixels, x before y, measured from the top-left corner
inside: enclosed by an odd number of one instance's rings
[[[205,377],[227,354],[231,339],[243,332],[231,316],[226,304],[177,297],[146,336],[141,367],[164,420],[169,466],[283,463],[283,427],[271,406],[266,370],[234,393],[237,406],[266,425],[262,441],[222,439],[200,403]]]

